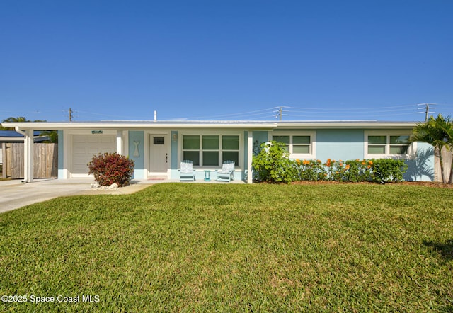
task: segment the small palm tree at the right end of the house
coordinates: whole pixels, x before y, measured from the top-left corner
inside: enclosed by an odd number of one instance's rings
[[[442,149],[452,149],[452,122],[449,117],[444,118],[442,114],[437,115],[437,118],[432,116],[425,123],[418,123],[413,131],[410,142],[426,142],[434,147],[434,154],[439,158],[440,173],[442,175],[442,183],[445,183],[444,161],[442,159]],[[453,166],[453,164],[452,164]],[[449,183],[452,182],[450,174]]]

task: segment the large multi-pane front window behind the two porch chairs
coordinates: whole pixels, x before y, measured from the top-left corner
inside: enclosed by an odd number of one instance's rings
[[[194,166],[221,166],[234,161],[239,166],[239,135],[183,135],[183,159]]]

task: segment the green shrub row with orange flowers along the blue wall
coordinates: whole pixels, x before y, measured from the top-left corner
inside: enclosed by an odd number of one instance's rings
[[[252,166],[258,181],[403,181],[407,165],[399,159],[300,160],[289,159],[285,144],[266,142]]]

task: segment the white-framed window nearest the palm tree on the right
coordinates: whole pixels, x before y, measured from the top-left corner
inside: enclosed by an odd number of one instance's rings
[[[367,132],[365,134],[365,157],[409,157],[415,151],[413,144],[409,143],[408,134],[397,132],[379,133]]]

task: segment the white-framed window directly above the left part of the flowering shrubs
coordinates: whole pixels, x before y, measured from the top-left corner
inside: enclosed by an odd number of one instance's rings
[[[291,158],[315,158],[315,133],[284,133],[273,134],[271,140],[285,144],[289,157]]]

